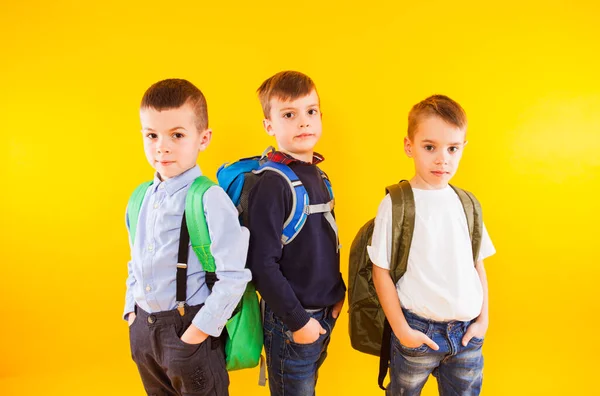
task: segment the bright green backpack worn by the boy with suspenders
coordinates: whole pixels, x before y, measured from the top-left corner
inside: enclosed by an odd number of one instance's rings
[[[150,185],[152,185],[152,182],[142,183],[138,186],[127,205],[129,234],[132,244],[135,240],[142,202]],[[215,259],[210,252],[210,234],[204,217],[203,197],[204,193],[214,185],[216,184],[206,176],[200,176],[190,186],[185,199],[185,222],[192,242],[192,249],[200,263],[202,263],[202,268],[206,272],[206,283],[211,290],[212,284],[217,280],[215,276],[216,266]],[[175,269],[175,263],[173,267]],[[210,279],[213,279],[213,281]],[[263,346],[263,327],[258,297],[252,283],[248,283],[242,299],[234,310],[232,317],[227,321],[226,330],[226,332],[223,332],[223,337],[225,338],[227,370],[232,371],[257,366]]]

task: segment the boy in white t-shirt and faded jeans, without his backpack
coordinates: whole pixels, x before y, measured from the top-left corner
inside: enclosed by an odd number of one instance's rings
[[[434,95],[408,116],[404,151],[415,162],[410,185],[415,225],[406,273],[390,276],[392,201],[379,206],[371,246],[373,282],[393,331],[387,395],[419,395],[429,374],[440,395],[478,395],[488,328],[483,260],[495,253],[483,226],[474,265],[465,210],[448,184],[466,145],[467,118],[452,99]]]

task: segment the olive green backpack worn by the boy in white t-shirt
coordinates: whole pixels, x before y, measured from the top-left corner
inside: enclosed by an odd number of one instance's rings
[[[458,195],[465,214],[471,242],[473,259],[477,262],[481,246],[483,223],[481,206],[477,199],[465,190],[451,186]],[[406,272],[408,253],[415,226],[415,200],[410,183],[406,180],[387,187],[392,199],[392,257],[390,275],[394,284]],[[390,360],[391,328],[385,318],[372,278],[373,263],[369,259],[367,246],[371,244],[375,219],[369,220],[359,231],[350,248],[348,267],[349,332],[352,347],[360,352],[379,356],[379,387],[385,389],[383,381]]]

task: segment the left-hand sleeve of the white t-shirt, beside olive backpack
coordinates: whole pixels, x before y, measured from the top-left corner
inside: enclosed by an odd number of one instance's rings
[[[376,266],[390,269],[392,257],[392,198],[386,195],[379,204],[371,245],[367,246],[369,258]]]

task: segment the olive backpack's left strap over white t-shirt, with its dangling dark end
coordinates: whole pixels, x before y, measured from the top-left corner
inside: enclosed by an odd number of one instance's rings
[[[386,193],[392,199],[392,255],[390,260],[390,275],[394,285],[406,272],[408,254],[412,243],[415,228],[415,198],[410,183],[402,180],[386,188]],[[381,338],[381,351],[379,353],[379,387],[385,390],[383,381],[387,375],[391,358],[392,328],[385,318],[383,335]]]

